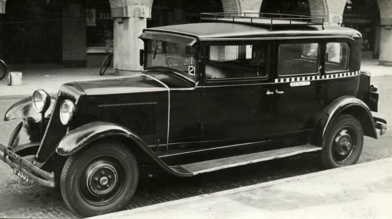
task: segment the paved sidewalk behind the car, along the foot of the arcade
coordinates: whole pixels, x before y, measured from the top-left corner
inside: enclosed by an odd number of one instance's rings
[[[23,73],[23,85],[8,86],[7,78],[3,78],[0,80],[0,99],[28,97],[36,89],[55,95],[61,84],[66,82],[114,76],[113,69],[99,76],[99,68],[63,68],[53,64],[10,65],[9,69]],[[372,76],[392,75],[392,67],[378,65],[377,59],[363,60],[361,69],[370,71]]]

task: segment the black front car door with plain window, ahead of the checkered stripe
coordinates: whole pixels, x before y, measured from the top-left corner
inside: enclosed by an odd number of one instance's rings
[[[221,44],[206,49],[200,146],[267,139],[271,98],[269,44]]]

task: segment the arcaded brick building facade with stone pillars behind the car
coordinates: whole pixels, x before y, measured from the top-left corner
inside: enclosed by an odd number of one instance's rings
[[[8,28],[4,25],[12,23],[3,19],[8,17],[8,13],[15,11],[11,8],[12,1],[24,0],[0,0],[0,13],[2,13],[0,31],[7,31]],[[143,45],[137,37],[142,30],[150,26],[197,22],[198,12],[277,12],[323,17],[325,23],[330,25],[359,28],[364,36],[364,57],[379,58],[380,64],[392,65],[392,0],[194,0],[192,2],[187,0],[37,0],[35,2],[39,1],[47,4],[42,7],[50,13],[53,13],[50,11],[54,10],[53,8],[60,8],[61,18],[58,20],[61,22],[52,24],[61,26],[61,46],[56,48],[61,50],[61,55],[55,62],[62,63],[65,67],[98,66],[105,55],[105,48],[113,41],[114,68],[118,70],[117,72],[141,71],[138,65],[138,50]],[[364,13],[360,8],[366,8],[370,13]],[[57,21],[57,18],[50,17],[48,20]],[[52,29],[47,27],[45,30],[56,31]],[[41,35],[41,38],[51,39],[51,35]],[[7,42],[6,40],[3,37],[2,44]],[[0,44],[1,48],[3,46]],[[50,47],[47,51],[42,46],[35,45],[35,48],[38,49],[38,53],[41,50],[52,52]],[[34,44],[31,49],[34,49]],[[4,49],[1,53],[5,53],[1,54],[2,56],[7,56]],[[50,59],[52,56],[48,55],[47,60],[52,60],[53,58]]]

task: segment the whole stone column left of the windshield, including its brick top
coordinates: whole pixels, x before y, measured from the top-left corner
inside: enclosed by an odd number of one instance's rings
[[[143,71],[139,50],[144,45],[138,37],[151,17],[152,0],[119,2],[110,1],[114,18],[113,67],[116,75],[132,75]]]

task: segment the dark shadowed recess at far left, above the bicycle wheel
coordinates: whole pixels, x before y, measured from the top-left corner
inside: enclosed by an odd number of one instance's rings
[[[61,63],[62,7],[58,1],[8,0],[1,15],[1,53],[8,63]]]

